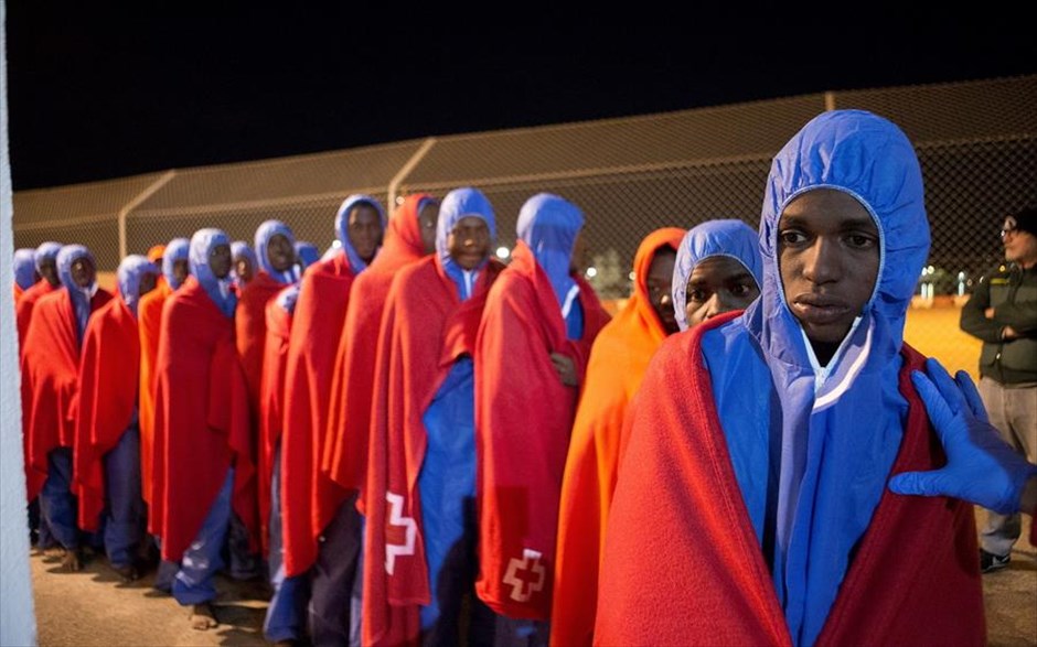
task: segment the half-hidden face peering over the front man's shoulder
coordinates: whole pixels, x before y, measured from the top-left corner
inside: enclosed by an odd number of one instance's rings
[[[736,259],[729,256],[703,259],[687,278],[684,305],[687,327],[731,310],[745,310],[759,295],[756,279]]]

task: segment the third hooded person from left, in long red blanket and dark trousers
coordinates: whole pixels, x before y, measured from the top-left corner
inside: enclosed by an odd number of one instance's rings
[[[31,502],[40,495],[43,518],[65,548],[64,565],[81,568],[79,529],[72,483],[79,355],[90,314],[111,293],[97,287],[94,256],[82,245],[57,254],[63,288],[40,298],[22,353],[25,472]]]

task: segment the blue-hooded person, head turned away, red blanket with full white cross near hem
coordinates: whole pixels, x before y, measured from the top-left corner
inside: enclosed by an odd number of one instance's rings
[[[550,615],[569,431],[591,345],[610,319],[574,267],[582,226],[580,209],[562,197],[526,201],[475,344],[475,590],[511,618]]]

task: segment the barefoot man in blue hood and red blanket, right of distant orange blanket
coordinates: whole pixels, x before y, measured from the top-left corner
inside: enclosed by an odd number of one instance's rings
[[[258,551],[255,459],[245,376],[234,348],[231,241],[220,229],[191,238],[191,276],[162,312],[156,363],[154,486],[150,530],[162,557],[181,561],[172,593],[213,617],[213,578],[232,515]]]

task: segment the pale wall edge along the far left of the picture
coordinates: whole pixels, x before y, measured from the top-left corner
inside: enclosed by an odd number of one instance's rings
[[[8,138],[7,2],[0,0],[0,645],[35,645],[22,457]]]

